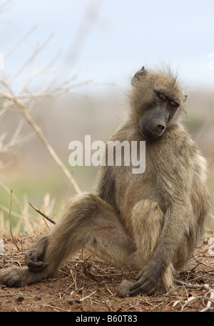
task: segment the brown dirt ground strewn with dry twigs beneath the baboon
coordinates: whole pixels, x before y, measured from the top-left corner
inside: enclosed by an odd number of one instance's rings
[[[212,236],[213,237],[213,236]],[[4,238],[0,268],[24,265],[24,253],[36,236]],[[58,278],[24,288],[0,285],[1,312],[199,312],[214,311],[214,238],[206,237],[195,252],[193,268],[178,275],[180,283],[165,295],[118,298],[121,278],[135,271],[107,265],[81,251],[61,268]],[[1,252],[2,253],[2,252]],[[182,283],[181,283],[182,282]]]

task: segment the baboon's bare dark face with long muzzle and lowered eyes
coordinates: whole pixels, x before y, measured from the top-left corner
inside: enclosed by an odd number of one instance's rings
[[[153,101],[145,105],[141,115],[138,115],[137,127],[143,137],[148,140],[156,140],[161,137],[178,107],[178,102],[154,90]]]

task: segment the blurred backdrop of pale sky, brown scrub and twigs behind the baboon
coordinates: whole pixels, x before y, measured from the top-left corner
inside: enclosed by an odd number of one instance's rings
[[[69,166],[68,144],[107,140],[143,65],[179,72],[213,203],[213,12],[212,0],[0,1],[0,237],[10,224],[40,228],[29,202],[57,219],[68,197],[91,191],[97,168]]]

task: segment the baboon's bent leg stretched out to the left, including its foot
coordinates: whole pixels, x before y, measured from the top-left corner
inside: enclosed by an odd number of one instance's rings
[[[26,253],[29,268],[1,270],[0,281],[24,286],[56,277],[63,261],[82,247],[117,265],[129,265],[136,251],[116,211],[98,196],[81,194],[71,201],[61,221]]]

